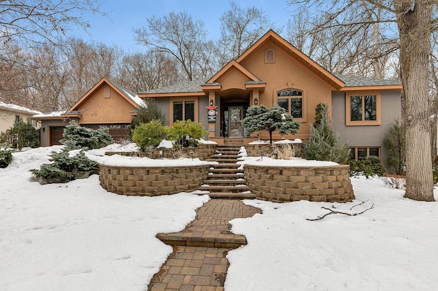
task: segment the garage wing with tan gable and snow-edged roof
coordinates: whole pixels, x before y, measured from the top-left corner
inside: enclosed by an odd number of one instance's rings
[[[103,78],[67,111],[34,115],[41,122],[41,146],[60,144],[64,127],[75,121],[80,126],[110,128],[113,139],[125,138],[132,115],[144,105],[142,99]]]

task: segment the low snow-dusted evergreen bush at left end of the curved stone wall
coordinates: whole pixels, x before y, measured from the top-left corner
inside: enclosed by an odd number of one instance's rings
[[[30,170],[40,184],[66,183],[97,174],[97,163],[87,158],[83,150],[70,155],[68,149],[63,148],[61,152],[52,152],[51,157],[53,163],[43,164],[40,169]]]

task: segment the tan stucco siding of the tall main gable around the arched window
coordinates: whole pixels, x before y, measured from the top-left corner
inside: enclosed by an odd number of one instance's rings
[[[265,51],[268,48],[272,48],[275,54],[275,62],[271,64],[265,63]],[[331,87],[273,43],[262,46],[242,65],[266,82],[265,91],[259,94],[259,105],[271,107],[276,103],[277,92],[282,89],[302,91],[305,111],[296,137],[309,137],[309,123],[313,122],[318,103],[328,103],[331,108]]]

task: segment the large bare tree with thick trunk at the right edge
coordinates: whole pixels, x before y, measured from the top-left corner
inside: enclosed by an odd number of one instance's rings
[[[429,55],[431,33],[437,30],[437,1],[365,0],[289,1],[324,14],[337,27],[357,28],[373,23],[394,23],[400,41],[400,74],[404,88],[407,186],[404,197],[434,201],[430,161]],[[354,9],[352,9],[354,8]],[[366,11],[385,11],[381,18],[363,18]],[[348,12],[349,14],[346,14]],[[369,14],[368,14],[369,15]],[[392,28],[394,28],[392,27]],[[324,25],[320,27],[323,29]],[[395,32],[395,31],[394,31]]]

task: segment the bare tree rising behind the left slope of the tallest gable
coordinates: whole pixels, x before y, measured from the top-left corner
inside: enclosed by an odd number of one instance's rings
[[[220,16],[220,40],[218,47],[222,52],[221,65],[242,55],[268,29],[273,28],[268,16],[262,8],[242,8],[235,2],[231,9]]]

